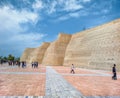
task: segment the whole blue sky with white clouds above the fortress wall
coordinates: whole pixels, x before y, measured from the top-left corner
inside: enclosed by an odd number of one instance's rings
[[[0,55],[21,56],[51,42],[120,18],[120,0],[0,0]]]

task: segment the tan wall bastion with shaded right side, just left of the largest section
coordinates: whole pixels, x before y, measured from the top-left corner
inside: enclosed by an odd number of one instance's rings
[[[50,44],[44,55],[42,64],[63,65],[66,47],[71,39],[69,34],[59,34],[58,39]]]

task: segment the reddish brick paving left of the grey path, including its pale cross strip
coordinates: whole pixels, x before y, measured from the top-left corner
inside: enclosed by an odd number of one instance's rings
[[[2,67],[0,69],[0,96],[45,95],[44,67],[38,69],[3,65],[0,67]]]

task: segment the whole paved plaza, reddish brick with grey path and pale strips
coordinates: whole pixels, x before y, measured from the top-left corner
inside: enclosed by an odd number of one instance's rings
[[[0,96],[120,98],[120,73],[117,75],[118,79],[112,80],[110,71],[76,68],[71,74],[70,67],[19,68],[4,64],[0,65]]]

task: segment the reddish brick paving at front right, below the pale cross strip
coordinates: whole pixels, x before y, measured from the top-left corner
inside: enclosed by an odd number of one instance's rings
[[[64,76],[72,85],[86,96],[119,96],[120,80],[110,77]],[[78,81],[78,82],[77,82]]]

